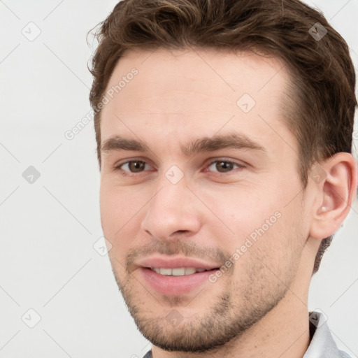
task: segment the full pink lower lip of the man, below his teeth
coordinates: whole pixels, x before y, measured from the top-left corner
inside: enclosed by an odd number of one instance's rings
[[[167,294],[171,296],[179,296],[188,294],[194,288],[199,287],[203,282],[208,282],[210,275],[213,275],[217,269],[210,271],[196,272],[192,275],[184,276],[165,276],[156,273],[150,268],[140,268],[145,281],[148,285],[159,292],[159,294]]]

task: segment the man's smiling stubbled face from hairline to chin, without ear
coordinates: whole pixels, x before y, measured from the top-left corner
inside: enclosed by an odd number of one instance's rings
[[[296,280],[310,203],[280,109],[288,81],[251,52],[127,52],[113,71],[101,224],[129,312],[160,348],[227,343]]]

